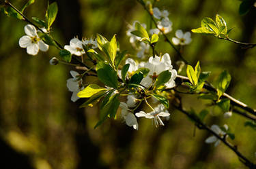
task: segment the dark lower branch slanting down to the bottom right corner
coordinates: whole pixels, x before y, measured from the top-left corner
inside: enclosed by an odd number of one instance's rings
[[[240,151],[238,151],[236,146],[231,145],[230,143],[227,142],[226,140],[226,136],[221,137],[218,134],[216,134],[211,128],[209,128],[208,126],[206,126],[205,124],[203,124],[202,121],[200,121],[199,119],[195,118],[193,115],[191,115],[190,113],[188,113],[187,111],[185,111],[181,106],[177,107],[174,105],[174,107],[179,110],[180,112],[184,113],[186,116],[188,116],[190,119],[193,119],[193,121],[195,121],[195,125],[197,126],[197,128],[201,129],[201,130],[207,130],[208,132],[210,132],[211,134],[213,134],[214,136],[216,136],[216,138],[218,138],[219,140],[221,140],[227,147],[229,147],[229,149],[231,149],[234,153],[236,153],[236,155],[238,155],[240,161],[247,166],[248,168],[251,169],[255,169],[256,168],[256,164],[253,164],[253,162],[251,162],[249,159],[247,159],[244,155],[242,155],[242,153],[240,153]]]

